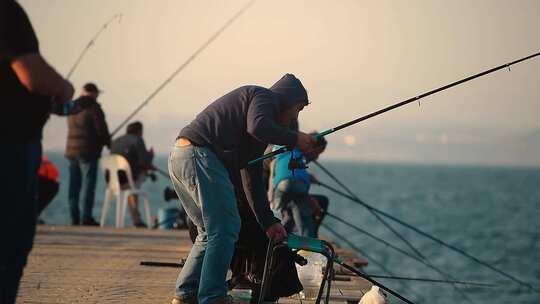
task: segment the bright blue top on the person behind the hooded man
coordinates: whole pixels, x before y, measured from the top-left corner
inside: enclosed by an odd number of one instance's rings
[[[273,151],[281,148],[281,146],[274,146]],[[305,157],[298,149],[294,149],[292,152],[282,153],[276,156],[274,166],[274,177],[272,178],[272,187],[275,188],[279,182],[286,179],[299,179],[306,183],[311,184],[311,178],[306,169],[295,169],[294,173],[289,170],[289,161],[291,160],[291,153],[296,158],[300,165],[305,165]]]

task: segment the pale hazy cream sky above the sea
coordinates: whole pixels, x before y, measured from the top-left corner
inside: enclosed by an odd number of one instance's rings
[[[21,0],[41,51],[72,81],[95,81],[109,126],[139,105],[247,1]],[[136,117],[168,153],[178,131],[217,97],[296,74],[323,130],[540,51],[540,1],[257,1]],[[540,164],[540,59],[500,71],[329,137],[327,158]],[[123,131],[122,131],[123,132]],[[46,150],[62,150],[53,118]]]

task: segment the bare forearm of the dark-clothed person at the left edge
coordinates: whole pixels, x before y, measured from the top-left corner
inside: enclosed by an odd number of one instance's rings
[[[11,61],[11,68],[19,81],[34,94],[52,96],[57,101],[73,97],[71,83],[56,72],[38,53],[24,54]]]

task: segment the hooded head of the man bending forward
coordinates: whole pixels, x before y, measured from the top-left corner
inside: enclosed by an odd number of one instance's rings
[[[298,113],[309,104],[306,89],[293,74],[285,74],[270,90],[280,96],[279,123],[283,126],[290,126],[298,119]]]

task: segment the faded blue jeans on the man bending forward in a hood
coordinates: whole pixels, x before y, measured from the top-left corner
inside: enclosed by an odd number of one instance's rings
[[[227,295],[227,270],[240,232],[234,187],[223,163],[204,147],[175,145],[169,174],[199,233],[176,280],[175,294],[208,304]]]

